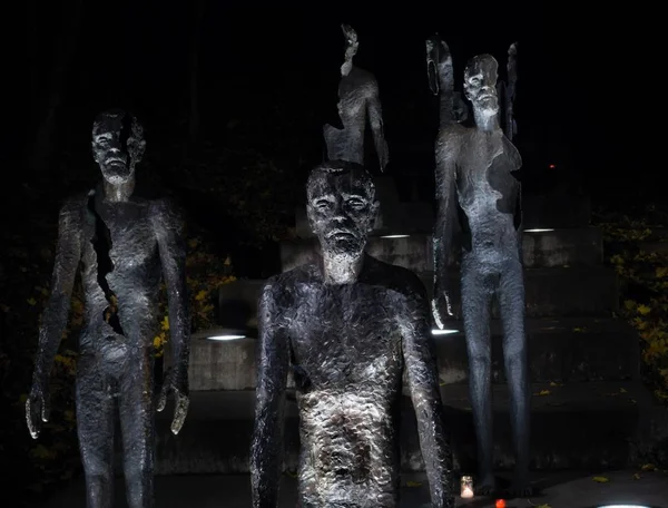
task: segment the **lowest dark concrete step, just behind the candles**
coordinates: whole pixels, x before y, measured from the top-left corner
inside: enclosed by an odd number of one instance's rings
[[[544,394],[546,390],[549,394]],[[636,448],[642,448],[655,439],[652,429],[660,429],[660,424],[666,422],[666,409],[658,408],[647,389],[636,381],[569,383],[562,387],[532,384],[531,393],[533,469],[627,467],[635,459]],[[452,433],[455,467],[474,470],[475,439],[468,387],[443,387],[442,399],[444,418]],[[505,387],[494,385],[493,401],[494,462],[499,470],[504,470],[511,468],[514,461]],[[169,431],[171,408],[158,413],[156,472],[248,472],[254,404],[254,391],[194,392],[188,419],[178,436]],[[294,471],[299,437],[293,397],[288,397],[286,403],[284,441],[285,465]],[[400,442],[402,469],[423,470],[409,398],[402,401]]]

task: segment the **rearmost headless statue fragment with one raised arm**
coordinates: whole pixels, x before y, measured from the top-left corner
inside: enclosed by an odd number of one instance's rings
[[[369,119],[382,172],[390,157],[383,130],[379,84],[371,72],[353,65],[353,58],[360,46],[355,30],[348,25],[342,25],[341,28],[345,37],[345,59],[341,66],[338,84],[338,117],[343,129],[332,125],[323,127],[327,158],[363,165],[364,131]]]

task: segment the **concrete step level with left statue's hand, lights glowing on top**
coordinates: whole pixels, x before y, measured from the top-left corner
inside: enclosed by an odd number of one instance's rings
[[[469,361],[463,325],[449,323],[449,334],[435,335],[442,384],[465,383]],[[492,379],[504,383],[502,329],[491,323]],[[638,379],[639,342],[635,331],[613,319],[528,319],[527,342],[533,382]],[[256,387],[255,339],[193,340],[190,389],[253,390]],[[292,377],[289,385],[294,385]]]

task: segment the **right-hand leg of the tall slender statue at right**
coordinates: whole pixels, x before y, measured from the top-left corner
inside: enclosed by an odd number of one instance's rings
[[[529,489],[530,385],[527,335],[524,333],[524,280],[520,261],[512,261],[501,274],[499,310],[503,323],[503,359],[510,389],[510,422],[515,448],[514,494]]]

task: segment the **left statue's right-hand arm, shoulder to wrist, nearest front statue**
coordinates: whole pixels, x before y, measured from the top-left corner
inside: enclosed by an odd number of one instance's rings
[[[187,395],[190,313],[186,284],[185,222],[180,212],[169,201],[156,201],[151,207],[151,222],[158,243],[163,277],[167,286],[174,375],[170,381],[173,388]]]

